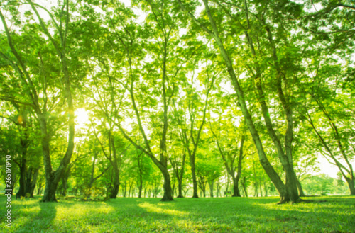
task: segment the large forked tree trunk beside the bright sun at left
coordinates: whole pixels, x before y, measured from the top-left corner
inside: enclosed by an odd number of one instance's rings
[[[14,43],[16,42],[13,40],[13,36],[11,35],[9,28],[6,23],[6,19],[4,18],[4,15],[2,11],[0,11],[0,18],[1,21],[4,25],[5,28],[5,33],[6,33],[6,38],[9,44],[9,52],[11,52],[11,56],[6,55],[1,52],[1,57],[2,59],[5,59],[6,61],[9,62],[11,67],[16,71],[16,78],[18,79],[19,82],[23,84],[26,88],[24,89],[24,92],[26,93],[26,97],[28,98],[28,101],[31,101],[28,105],[31,106],[35,112],[35,115],[38,120],[38,124],[40,125],[40,130],[41,130],[41,144],[42,144],[42,151],[43,151],[43,161],[44,161],[44,166],[45,166],[45,178],[46,178],[46,185],[45,185],[45,193],[43,196],[42,201],[43,202],[51,202],[51,201],[56,201],[55,198],[55,191],[57,190],[58,183],[60,181],[60,178],[62,174],[64,173],[67,164],[70,162],[70,158],[72,156],[72,151],[74,149],[74,135],[75,135],[75,122],[74,122],[74,105],[73,105],[73,100],[72,100],[72,91],[70,88],[70,72],[68,70],[68,65],[67,65],[67,33],[69,30],[69,21],[70,21],[70,11],[69,11],[69,1],[65,1],[62,4],[62,8],[60,9],[60,12],[58,12],[58,15],[53,15],[53,13],[50,13],[47,9],[45,9],[43,6],[40,6],[38,4],[34,4],[31,0],[27,1],[28,4],[30,4],[31,9],[33,13],[35,13],[35,16],[37,16],[39,25],[38,28],[42,30],[43,35],[45,35],[46,38],[48,38],[47,41],[45,41],[45,37],[40,37],[40,33],[38,33],[38,30],[36,31],[37,38],[39,42],[42,42],[45,44],[45,47],[51,47],[53,46],[53,52],[55,56],[60,57],[59,59],[59,64],[60,64],[60,71],[62,75],[62,83],[64,84],[64,89],[63,93],[65,93],[65,98],[67,100],[67,113],[69,115],[69,120],[68,120],[68,126],[69,126],[69,135],[68,135],[68,143],[67,143],[67,151],[65,152],[64,157],[62,158],[62,161],[60,162],[60,165],[58,166],[58,169],[53,171],[53,167],[51,164],[51,159],[50,159],[50,135],[48,132],[48,113],[50,113],[50,108],[51,106],[48,106],[48,81],[46,79],[49,79],[48,74],[44,72],[41,85],[41,89],[38,89],[39,86],[36,86],[37,81],[34,80],[33,78],[33,69],[39,69],[43,70],[43,66],[45,65],[43,63],[42,55],[40,52],[40,49],[37,48],[38,50],[38,57],[35,57],[35,64],[34,67],[31,67],[32,64],[26,63],[26,59],[23,59],[23,51],[19,51],[16,49],[16,46]],[[11,4],[9,4],[11,6]],[[41,8],[48,13],[51,19],[51,23],[54,25],[54,30],[56,33],[58,33],[59,38],[54,38],[53,35],[50,34],[48,30],[48,26],[46,23],[43,21],[43,18],[40,16],[40,13],[38,13],[38,8]],[[57,21],[55,20],[55,16],[58,16]],[[64,27],[62,28],[62,23],[64,23]],[[36,64],[37,63],[37,64]],[[30,69],[32,68],[32,69]],[[45,70],[45,69],[44,69]],[[33,72],[30,74],[30,72]],[[43,98],[41,95],[38,93],[38,91],[43,91]]]

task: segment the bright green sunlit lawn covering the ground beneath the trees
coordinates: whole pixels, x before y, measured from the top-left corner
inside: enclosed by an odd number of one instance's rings
[[[0,197],[0,232],[5,226]],[[355,197],[276,205],[278,198],[12,200],[11,232],[355,232]]]

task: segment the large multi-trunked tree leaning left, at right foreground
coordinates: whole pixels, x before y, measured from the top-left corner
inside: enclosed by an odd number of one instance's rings
[[[268,157],[266,157],[265,151],[263,149],[263,144],[260,140],[260,136],[258,135],[258,132],[256,130],[256,127],[253,123],[253,119],[251,118],[250,111],[248,109],[248,106],[246,105],[246,99],[244,98],[244,91],[242,89],[242,86],[240,84],[240,81],[237,79],[236,72],[234,71],[234,65],[231,59],[231,55],[226,50],[226,47],[224,45],[224,42],[222,40],[222,33],[219,33],[219,28],[217,28],[217,23],[216,23],[216,18],[213,16],[213,13],[209,7],[208,1],[203,0],[204,3],[204,9],[205,13],[207,15],[208,21],[209,21],[209,27],[207,27],[204,23],[202,23],[199,19],[195,18],[195,16],[191,13],[191,9],[187,10],[186,6],[182,4],[180,0],[178,0],[180,7],[182,8],[185,13],[187,13],[190,18],[192,18],[192,21],[198,25],[202,30],[204,30],[211,38],[214,39],[214,42],[217,44],[217,48],[219,52],[221,52],[221,55],[224,59],[224,64],[226,66],[227,71],[229,72],[229,77],[231,80],[231,84],[234,86],[234,90],[236,91],[236,95],[238,97],[238,103],[239,103],[239,108],[241,108],[241,111],[244,115],[244,118],[246,120],[246,125],[249,127],[249,131],[251,132],[251,137],[253,138],[254,144],[256,145],[256,149],[258,151],[259,155],[259,160],[261,162],[261,165],[266,171],[266,174],[271,178],[271,181],[273,181],[275,187],[278,189],[278,192],[280,193],[280,203],[285,203],[288,201],[292,202],[297,202],[299,201],[299,196],[297,193],[297,186],[296,186],[296,177],[295,177],[295,172],[293,171],[293,161],[292,161],[292,138],[293,138],[293,119],[292,119],[292,109],[290,108],[290,101],[287,96],[284,94],[284,90],[282,88],[282,76],[281,76],[281,68],[278,64],[278,55],[277,55],[277,50],[275,49],[275,43],[273,41],[273,35],[271,32],[271,28],[261,19],[259,23],[263,24],[263,28],[266,28],[266,33],[267,33],[267,39],[268,42],[271,45],[271,55],[273,57],[273,62],[274,62],[274,67],[275,67],[275,84],[278,90],[278,96],[280,98],[280,103],[283,106],[283,110],[285,110],[285,116],[287,118],[287,130],[285,132],[285,151],[282,145],[280,144],[280,140],[278,139],[277,135],[275,134],[275,130],[273,129],[273,125],[271,123],[271,118],[270,114],[268,112],[268,107],[266,106],[266,101],[263,89],[261,86],[261,74],[260,74],[260,69],[258,67],[258,64],[254,64],[254,68],[256,68],[256,73],[251,73],[251,76],[255,80],[256,84],[256,89],[258,91],[258,98],[259,98],[259,103],[261,104],[261,110],[263,113],[263,118],[266,122],[266,128],[268,129],[268,133],[273,140],[273,143],[275,144],[275,149],[278,151],[278,156],[280,158],[280,162],[283,164],[283,169],[285,170],[286,173],[286,183],[283,183],[283,181],[280,179],[280,176],[276,173],[275,169],[273,169],[273,166],[271,165],[270,161],[268,161]],[[250,28],[250,21],[249,21],[249,10],[248,10],[248,4],[246,1],[241,4],[242,6],[244,5],[244,8],[242,8],[241,11],[244,11],[244,16],[246,17],[246,23],[247,25],[244,27],[243,25],[241,26],[241,32],[244,32],[245,38],[247,39],[247,45],[249,45],[252,57],[256,57],[255,50],[253,49],[253,42],[251,40],[251,37],[249,36],[248,30],[251,30]],[[220,5],[219,5],[220,6]],[[267,10],[268,5],[263,6]],[[231,8],[231,6],[229,6]],[[262,8],[262,9],[263,9]],[[237,8],[234,8],[237,10]],[[238,9],[239,10],[239,9]],[[229,14],[231,16],[231,14]],[[256,19],[259,20],[260,18],[257,18],[257,15],[255,15]],[[240,24],[240,23],[239,23]],[[255,58],[254,58],[255,59]],[[251,71],[250,71],[251,72]]]

